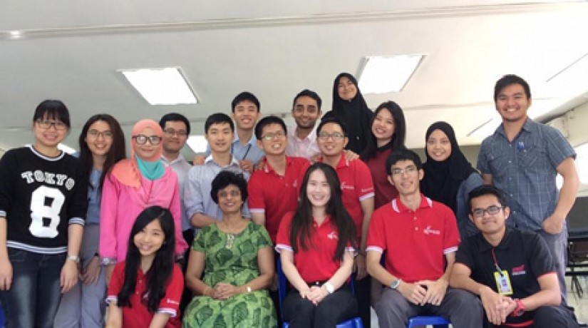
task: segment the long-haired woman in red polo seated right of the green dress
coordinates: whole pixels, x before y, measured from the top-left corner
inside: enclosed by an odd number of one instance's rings
[[[276,250],[294,287],[282,312],[292,328],[334,328],[357,314],[357,301],[345,284],[357,234],[340,185],[331,166],[314,163],[304,175],[296,212],[280,223]]]

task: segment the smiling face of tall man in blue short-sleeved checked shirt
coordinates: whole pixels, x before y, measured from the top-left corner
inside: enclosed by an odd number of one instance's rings
[[[531,99],[527,98],[523,86],[514,83],[502,88],[496,97],[495,106],[503,121],[525,121]]]

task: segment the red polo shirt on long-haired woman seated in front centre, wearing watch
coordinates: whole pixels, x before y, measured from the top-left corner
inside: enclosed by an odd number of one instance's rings
[[[277,252],[294,252],[290,244],[292,217],[294,217],[294,212],[288,212],[284,215],[279,225],[276,241]],[[341,261],[333,260],[337,242],[339,242],[339,235],[337,234],[337,228],[331,225],[331,220],[328,216],[321,225],[317,225],[313,220],[310,241],[306,242],[307,250],[303,250],[298,245],[298,252],[294,253],[296,270],[298,270],[300,277],[308,283],[324,282],[331,279],[341,267]],[[353,252],[354,248],[348,247],[346,250]]]

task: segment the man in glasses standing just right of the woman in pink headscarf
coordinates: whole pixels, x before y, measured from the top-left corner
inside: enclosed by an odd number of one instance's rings
[[[194,230],[190,224],[190,217],[186,212],[186,205],[184,203],[184,182],[186,180],[188,171],[192,165],[187,162],[181,153],[182,148],[186,145],[188,135],[190,135],[190,121],[180,113],[167,113],[159,121],[159,125],[163,129],[163,153],[161,160],[163,165],[170,166],[177,175],[177,183],[180,188],[180,206],[182,208],[182,235],[187,245],[192,245],[194,240]],[[190,255],[190,248],[188,247],[184,254],[184,263],[182,270],[186,272],[186,265],[188,262],[188,255]],[[180,310],[184,311],[187,304],[192,299],[192,293],[185,289],[182,294],[182,301],[180,302]]]

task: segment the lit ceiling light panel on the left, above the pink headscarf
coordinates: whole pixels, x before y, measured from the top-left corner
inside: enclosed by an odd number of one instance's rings
[[[125,69],[120,73],[151,105],[198,102],[180,68]]]

